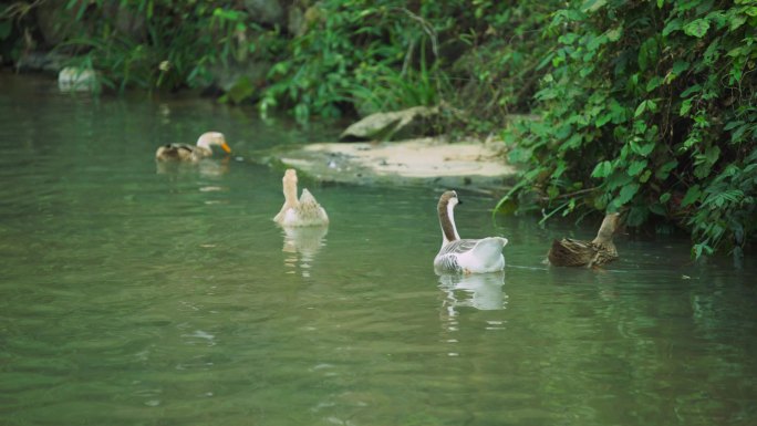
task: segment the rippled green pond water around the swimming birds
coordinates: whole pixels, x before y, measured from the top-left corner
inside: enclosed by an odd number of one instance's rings
[[[156,169],[206,129],[237,157]],[[462,190],[508,266],[440,279],[443,188],[307,179],[332,225],[287,237],[248,153],[333,133],[0,75],[0,425],[757,424],[754,259],[623,237],[604,271],[548,269],[593,227],[492,225]]]

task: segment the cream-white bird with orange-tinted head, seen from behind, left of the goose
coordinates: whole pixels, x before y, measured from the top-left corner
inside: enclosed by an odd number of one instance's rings
[[[297,170],[288,168],[281,179],[284,204],[273,220],[282,227],[310,227],[329,225],[329,216],[307,188],[297,199]]]

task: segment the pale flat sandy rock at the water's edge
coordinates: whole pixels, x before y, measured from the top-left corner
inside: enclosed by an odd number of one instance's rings
[[[273,163],[322,181],[438,185],[504,189],[516,168],[505,162],[501,143],[447,143],[427,137],[385,143],[318,143],[271,154]]]

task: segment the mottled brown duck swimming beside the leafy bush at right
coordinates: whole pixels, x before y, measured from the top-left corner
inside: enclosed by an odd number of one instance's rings
[[[556,267],[598,268],[618,259],[612,237],[620,226],[620,214],[604,216],[597,238],[591,241],[563,238],[553,240],[547,253],[549,263]]]

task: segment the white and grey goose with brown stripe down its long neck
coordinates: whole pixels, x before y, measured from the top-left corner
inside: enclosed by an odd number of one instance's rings
[[[462,204],[457,193],[442,194],[437,205],[442,227],[442,248],[434,258],[434,271],[446,273],[487,273],[505,269],[502,249],[508,240],[505,237],[481,239],[460,239],[455,226],[455,206]]]

